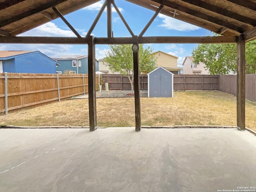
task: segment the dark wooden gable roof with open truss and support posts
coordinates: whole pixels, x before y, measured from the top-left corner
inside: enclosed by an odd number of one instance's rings
[[[127,0],[154,10],[142,32],[134,35],[114,0],[106,0],[86,37],[81,37],[63,15],[89,6],[99,0],[4,0],[0,2],[0,43],[88,44],[88,84],[90,130],[97,128],[95,90],[95,44],[133,44],[136,131],[140,131],[140,89],[138,44],[146,43],[236,43],[237,44],[237,127],[245,130],[245,42],[256,38],[256,3],[253,0]],[[132,37],[115,38],[112,33],[112,5]],[[107,37],[91,33],[107,8]],[[222,36],[177,37],[143,36],[156,16],[161,14],[200,26]],[[32,28],[61,18],[77,37],[16,36]]]

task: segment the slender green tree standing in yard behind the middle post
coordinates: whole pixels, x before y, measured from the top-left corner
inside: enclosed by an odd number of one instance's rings
[[[119,72],[127,76],[133,92],[133,52],[131,45],[109,45],[110,50],[106,54],[104,65],[112,72]],[[153,50],[148,46],[139,45],[139,65],[141,72],[150,72],[156,68],[156,58],[152,55]]]

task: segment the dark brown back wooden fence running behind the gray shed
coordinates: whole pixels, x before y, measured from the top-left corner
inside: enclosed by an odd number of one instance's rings
[[[128,77],[102,74],[110,90],[131,90]],[[140,75],[140,89],[148,90],[148,75]],[[174,75],[174,90],[218,90],[218,75]]]

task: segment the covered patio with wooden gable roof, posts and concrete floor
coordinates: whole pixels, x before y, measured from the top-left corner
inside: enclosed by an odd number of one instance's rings
[[[0,2],[0,43],[88,45],[90,117],[89,129],[1,129],[0,191],[206,192],[255,187],[256,139],[240,131],[246,129],[245,43],[256,38],[255,1],[128,0],[156,12],[135,35],[114,0],[106,0],[86,37],[81,37],[63,15],[98,1]],[[131,37],[113,36],[112,5]],[[105,7],[108,36],[94,37],[92,31]],[[143,36],[160,12],[222,36]],[[58,17],[77,37],[16,36]],[[146,43],[236,43],[238,129],[142,129],[136,47]],[[133,45],[134,128],[96,130],[96,44]]]

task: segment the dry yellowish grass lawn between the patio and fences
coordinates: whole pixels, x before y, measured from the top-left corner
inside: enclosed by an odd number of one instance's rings
[[[142,126],[236,126],[236,97],[218,91],[141,98]],[[135,126],[134,98],[97,98],[98,126]],[[0,125],[89,126],[88,99],[73,99],[0,116]],[[246,101],[246,126],[256,130],[256,103]]]

